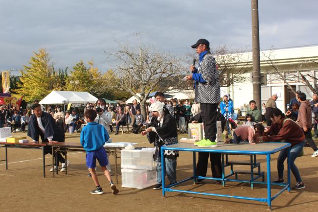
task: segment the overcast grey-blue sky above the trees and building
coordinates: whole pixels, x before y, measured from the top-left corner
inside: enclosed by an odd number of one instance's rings
[[[55,68],[93,58],[111,68],[104,51],[153,45],[186,54],[206,38],[210,47],[251,48],[250,0],[0,0],[0,71],[22,69],[45,48]],[[259,0],[261,49],[318,45],[316,0]],[[144,32],[144,33],[143,33]],[[189,58],[189,61],[191,59]]]

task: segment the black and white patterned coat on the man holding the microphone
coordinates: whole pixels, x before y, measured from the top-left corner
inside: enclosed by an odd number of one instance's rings
[[[220,80],[219,73],[216,70],[215,58],[212,54],[205,54],[198,69],[202,78],[206,83],[199,83],[198,85],[198,102],[200,103],[219,103],[220,102]]]

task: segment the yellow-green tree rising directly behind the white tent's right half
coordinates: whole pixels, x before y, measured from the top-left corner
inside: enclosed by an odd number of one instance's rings
[[[65,90],[90,92],[91,84],[91,73],[81,60],[75,64],[73,70],[70,71],[70,75],[66,77]]]

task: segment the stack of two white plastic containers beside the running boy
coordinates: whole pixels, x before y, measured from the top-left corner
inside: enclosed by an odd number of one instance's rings
[[[154,148],[121,150],[121,186],[147,188],[157,184]]]

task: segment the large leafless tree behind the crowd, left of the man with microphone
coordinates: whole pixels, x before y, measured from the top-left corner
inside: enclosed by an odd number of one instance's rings
[[[151,92],[165,92],[184,84],[181,81],[185,75],[182,58],[154,47],[119,47],[120,50],[112,54],[117,60],[114,71],[118,80],[115,86],[139,99],[141,113],[146,117],[145,102]]]

